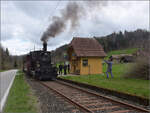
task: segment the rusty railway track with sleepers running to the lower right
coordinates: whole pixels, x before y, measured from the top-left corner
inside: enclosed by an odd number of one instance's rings
[[[113,100],[109,97],[101,96],[97,93],[89,92],[81,88],[62,81],[40,82],[42,85],[58,93],[68,102],[75,105],[83,112],[109,112],[109,113],[141,113],[149,112],[144,108],[140,108],[121,101]]]

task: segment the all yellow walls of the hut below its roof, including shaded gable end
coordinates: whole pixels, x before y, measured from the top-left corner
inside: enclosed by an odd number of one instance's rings
[[[76,57],[73,56],[73,49],[68,52],[70,73],[71,74],[101,74],[102,73],[102,60],[101,57]],[[83,60],[88,59],[88,66],[83,66]]]

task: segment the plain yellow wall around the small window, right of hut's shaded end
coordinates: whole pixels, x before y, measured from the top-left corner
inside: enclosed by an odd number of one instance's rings
[[[83,66],[83,60],[88,59],[88,66]],[[102,58],[100,57],[83,57],[81,58],[81,75],[101,74],[102,73]]]

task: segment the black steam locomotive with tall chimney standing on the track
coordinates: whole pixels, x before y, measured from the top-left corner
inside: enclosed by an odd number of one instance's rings
[[[51,64],[51,52],[47,51],[47,43],[43,50],[32,51],[26,55],[23,70],[27,75],[38,80],[53,80],[57,77],[57,68]]]

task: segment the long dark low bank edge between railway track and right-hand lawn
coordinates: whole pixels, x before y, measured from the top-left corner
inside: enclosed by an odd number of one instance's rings
[[[144,105],[149,106],[149,102],[150,100],[148,98],[144,98],[144,97],[140,97],[140,96],[136,96],[136,95],[132,95],[132,94],[128,94],[128,93],[123,93],[123,92],[119,92],[119,91],[115,91],[112,89],[107,89],[107,88],[102,88],[102,87],[97,87],[94,85],[90,85],[90,84],[86,84],[86,83],[81,83],[81,82],[77,82],[77,81],[72,81],[72,80],[67,80],[67,79],[63,79],[63,78],[58,78],[58,80],[67,82],[67,83],[71,83],[74,84],[76,86],[82,87],[82,88],[87,88],[99,93],[103,93],[107,96],[115,96],[120,98],[122,101],[131,101],[134,104],[139,104],[139,105]]]

